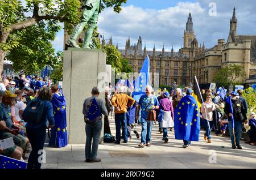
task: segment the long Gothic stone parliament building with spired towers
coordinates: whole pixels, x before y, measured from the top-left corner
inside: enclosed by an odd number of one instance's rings
[[[146,55],[150,58],[150,72],[154,84],[154,73],[160,74],[160,85],[189,85],[195,83],[197,76],[199,84],[213,82],[213,76],[221,67],[234,63],[244,68],[246,79],[240,80],[245,83],[250,76],[256,74],[256,36],[237,35],[236,9],[233,10],[230,19],[228,40],[219,39],[213,48],[205,49],[205,45],[199,46],[193,31],[191,13],[188,15],[186,29],[184,31],[184,45],[179,52],[166,52],[163,46],[162,52],[143,48],[141,36],[137,45],[131,45],[130,38],[126,40],[125,49],[118,49],[122,56],[129,60],[134,72],[140,72]],[[112,45],[112,37],[109,39]]]

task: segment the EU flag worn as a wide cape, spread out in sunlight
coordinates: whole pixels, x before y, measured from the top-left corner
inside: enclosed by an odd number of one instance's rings
[[[199,141],[200,117],[195,97],[181,98],[174,113],[175,139]]]

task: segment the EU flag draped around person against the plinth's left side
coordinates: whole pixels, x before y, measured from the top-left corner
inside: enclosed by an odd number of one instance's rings
[[[53,114],[55,126],[51,128],[49,146],[65,147],[68,145],[68,127],[66,117],[66,101],[62,93],[54,93],[52,96]]]

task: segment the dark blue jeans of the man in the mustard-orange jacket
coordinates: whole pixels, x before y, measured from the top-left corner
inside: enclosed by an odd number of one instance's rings
[[[119,143],[121,140],[121,124],[122,124],[122,135],[123,140],[127,142],[127,120],[126,120],[126,113],[122,114],[115,114],[115,138]]]

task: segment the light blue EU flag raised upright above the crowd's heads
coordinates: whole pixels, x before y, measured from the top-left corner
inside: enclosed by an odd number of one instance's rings
[[[143,62],[139,77],[134,80],[133,98],[136,102],[139,102],[139,98],[141,98],[142,95],[146,95],[146,85],[150,85],[150,59],[148,55]]]

